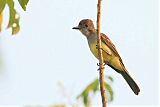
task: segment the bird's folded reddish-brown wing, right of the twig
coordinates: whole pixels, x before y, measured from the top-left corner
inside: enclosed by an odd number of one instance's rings
[[[119,57],[122,65],[124,66],[123,62],[122,62],[122,59],[120,57],[120,55],[118,54],[117,50],[116,50],[116,47],[115,45],[112,43],[112,41],[103,33],[101,33],[101,40],[103,43],[105,43],[113,52],[116,56]]]

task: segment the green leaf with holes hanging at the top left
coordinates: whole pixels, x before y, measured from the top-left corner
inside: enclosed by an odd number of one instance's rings
[[[14,2],[13,0],[7,0],[7,4],[9,7],[9,23],[7,28],[12,28],[12,35],[15,35],[19,32],[20,30],[20,26],[19,26],[19,15],[16,12],[15,8],[14,8]]]

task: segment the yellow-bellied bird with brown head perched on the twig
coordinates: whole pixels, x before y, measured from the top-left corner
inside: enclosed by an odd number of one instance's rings
[[[82,19],[78,26],[72,29],[79,30],[87,38],[90,51],[98,59],[97,29],[95,29],[93,21],[91,19]],[[140,88],[127,71],[115,45],[104,33],[100,33],[100,35],[104,64],[121,74],[135,95],[138,95]]]

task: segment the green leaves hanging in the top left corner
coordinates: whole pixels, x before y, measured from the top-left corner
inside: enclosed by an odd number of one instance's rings
[[[19,4],[21,5],[24,11],[26,10],[28,1],[29,0],[18,0]],[[20,25],[19,25],[20,16],[15,9],[13,0],[0,0],[0,31],[2,29],[3,10],[6,5],[8,5],[9,7],[9,22],[7,25],[7,29],[11,28],[12,35],[15,35],[20,30]]]

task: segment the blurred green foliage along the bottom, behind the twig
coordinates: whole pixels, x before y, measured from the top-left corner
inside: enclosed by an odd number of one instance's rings
[[[107,103],[112,102],[113,101],[113,89],[112,89],[112,84],[113,83],[113,78],[111,76],[106,76],[105,77],[105,88],[106,88],[106,94],[107,94]],[[92,102],[91,100],[93,100],[93,96],[91,97],[90,95],[96,95],[97,93],[100,94],[100,86],[99,86],[99,79],[96,78],[95,80],[93,80],[91,83],[89,83],[85,89],[83,89],[83,91],[77,95],[77,98],[75,98],[74,100],[72,99],[73,102],[69,102],[71,101],[70,95],[67,92],[66,87],[64,87],[64,84],[62,82],[58,82],[58,87],[60,88],[60,92],[62,94],[62,98],[65,98],[68,102],[64,103],[61,102],[59,104],[53,104],[50,105],[48,107],[92,107]],[[72,92],[69,92],[72,93]],[[80,105],[83,104],[83,105]],[[28,105],[25,107],[43,107],[40,105]]]

